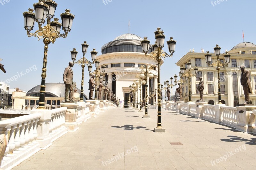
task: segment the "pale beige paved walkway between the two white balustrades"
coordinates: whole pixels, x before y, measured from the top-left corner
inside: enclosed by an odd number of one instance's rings
[[[148,111],[102,112],[14,169],[256,169],[255,135],[171,111],[166,133],[154,133],[157,110]]]

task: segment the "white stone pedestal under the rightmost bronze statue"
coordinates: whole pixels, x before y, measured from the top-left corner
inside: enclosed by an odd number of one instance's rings
[[[236,130],[244,133],[252,133],[255,129],[255,115],[250,114],[252,110],[256,109],[254,105],[236,106]]]

